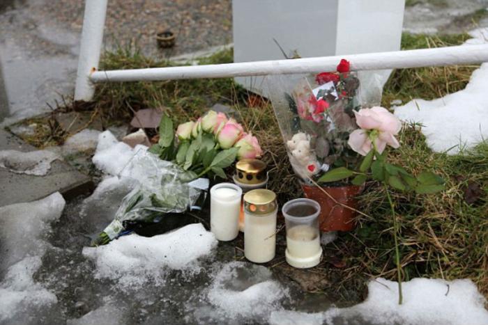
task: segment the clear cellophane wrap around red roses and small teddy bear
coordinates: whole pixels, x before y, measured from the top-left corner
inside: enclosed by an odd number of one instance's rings
[[[342,60],[335,72],[306,77],[268,77],[268,95],[277,116],[289,161],[310,184],[330,168],[356,166],[358,152],[348,145],[360,110],[360,81]]]

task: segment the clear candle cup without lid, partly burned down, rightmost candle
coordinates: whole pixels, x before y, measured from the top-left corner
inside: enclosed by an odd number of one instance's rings
[[[319,203],[309,198],[297,198],[285,203],[282,212],[287,227],[285,256],[288,264],[298,269],[319,264],[322,258]]]

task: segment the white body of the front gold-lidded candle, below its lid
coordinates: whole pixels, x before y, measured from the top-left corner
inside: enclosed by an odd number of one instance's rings
[[[245,212],[244,255],[247,260],[265,263],[273,260],[276,248],[276,210],[266,215]]]

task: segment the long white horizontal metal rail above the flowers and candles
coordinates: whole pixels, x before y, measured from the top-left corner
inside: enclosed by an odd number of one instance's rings
[[[156,81],[335,71],[341,58],[345,58],[351,63],[351,70],[353,71],[483,63],[488,62],[488,45],[460,45],[434,49],[297,58],[293,60],[109,70],[93,72],[90,78],[94,82]]]

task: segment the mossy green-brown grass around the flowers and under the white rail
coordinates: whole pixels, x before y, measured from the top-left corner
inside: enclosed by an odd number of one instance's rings
[[[410,35],[402,38],[403,49],[462,44],[469,36]],[[223,51],[201,63],[227,63],[232,52]],[[136,52],[119,50],[102,58],[102,69],[165,67]],[[383,105],[392,100],[407,102],[415,97],[434,99],[464,88],[477,68],[455,66],[396,70],[383,91]],[[94,109],[106,118],[128,120],[132,111],[164,106],[182,122],[199,116],[213,104],[232,106],[247,131],[256,134],[270,167],[270,188],[280,202],[301,195],[288,163],[277,121],[270,104],[250,95],[233,79],[131,82],[98,86]],[[432,170],[447,180],[442,193],[425,196],[395,193],[401,225],[400,249],[404,280],[413,277],[471,278],[488,296],[488,143],[471,152],[448,156],[429,150],[418,125],[407,125],[400,135],[402,147],[389,157],[409,170]],[[330,287],[348,299],[347,292],[363,290],[371,277],[395,280],[392,219],[386,196],[379,184],[370,182],[360,200],[360,209],[371,217],[358,219],[360,226],[340,235],[325,251],[324,262],[314,271],[327,274]],[[337,263],[337,261],[341,261]],[[332,262],[331,261],[336,261]],[[345,263],[344,263],[345,262]],[[335,266],[334,266],[335,265]]]

